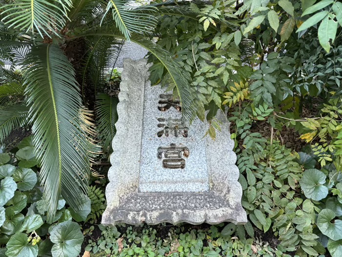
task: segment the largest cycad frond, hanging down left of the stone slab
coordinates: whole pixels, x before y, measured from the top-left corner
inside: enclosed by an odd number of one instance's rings
[[[26,60],[25,93],[31,104],[34,145],[41,164],[48,220],[60,195],[79,210],[89,178],[89,140],[75,72],[57,45],[32,48]]]

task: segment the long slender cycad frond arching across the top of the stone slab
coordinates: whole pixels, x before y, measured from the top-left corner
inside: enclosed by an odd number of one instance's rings
[[[75,35],[74,38],[87,36],[107,36],[113,38],[125,38],[120,31],[111,27],[103,27],[100,29],[86,30],[84,33]],[[71,39],[70,39],[71,40]],[[146,39],[144,35],[132,34],[130,40],[150,51],[168,70],[172,81],[174,82],[177,93],[182,105],[182,115],[185,120],[192,121],[196,117],[198,108],[198,99],[196,92],[190,87],[191,75],[190,72],[183,69],[180,62],[177,61],[169,51],[155,44],[153,41]]]

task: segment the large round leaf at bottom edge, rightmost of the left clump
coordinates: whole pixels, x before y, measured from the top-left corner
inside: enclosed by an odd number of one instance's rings
[[[81,252],[83,234],[76,222],[65,221],[55,226],[50,235],[54,243],[52,247],[53,257],[77,257]]]

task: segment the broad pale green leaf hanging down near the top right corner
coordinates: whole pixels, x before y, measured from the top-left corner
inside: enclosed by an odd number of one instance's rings
[[[337,24],[334,20],[329,19],[329,16],[326,16],[318,28],[318,39],[326,52],[330,51],[329,40],[332,39],[332,42],[335,40]]]

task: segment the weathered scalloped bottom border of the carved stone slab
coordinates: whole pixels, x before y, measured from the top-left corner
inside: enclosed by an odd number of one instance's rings
[[[206,193],[135,193],[120,199],[120,205],[106,210],[102,224],[141,223],[156,225],[162,222],[178,224],[218,224],[247,222],[246,212],[239,203],[227,203],[223,197]]]

